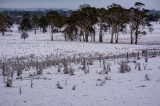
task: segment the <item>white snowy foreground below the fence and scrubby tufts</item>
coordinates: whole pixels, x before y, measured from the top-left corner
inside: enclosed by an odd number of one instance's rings
[[[89,66],[87,74],[79,68],[81,65],[72,65],[73,76],[58,73],[57,67],[44,70],[40,79],[33,80],[33,88],[25,77],[22,81],[14,79],[13,87],[6,88],[0,76],[0,106],[160,106],[160,57],[150,58],[148,63],[143,58],[136,60],[141,71],[135,69],[135,63],[129,63],[128,73],[119,73],[119,61],[106,61],[111,66],[110,80],[99,74],[103,70],[99,61]],[[150,80],[145,79],[146,74]],[[63,89],[56,87],[58,81]]]

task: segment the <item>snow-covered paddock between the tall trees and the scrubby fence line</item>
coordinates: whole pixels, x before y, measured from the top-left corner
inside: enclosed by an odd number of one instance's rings
[[[85,42],[70,42],[64,41],[62,33],[54,35],[53,42],[50,41],[50,31],[43,34],[38,32],[28,32],[30,37],[24,41],[20,39],[17,26],[12,29],[13,32],[6,33],[5,36],[0,36],[0,57],[25,56],[35,54],[37,56],[49,54],[62,54],[70,56],[73,54],[87,53],[87,54],[121,54],[132,52],[138,49],[160,48],[160,25],[154,24],[154,31],[147,35],[140,37],[139,45],[129,44],[110,44],[110,43],[85,43]],[[97,31],[97,39],[98,39]],[[120,43],[129,43],[130,36],[127,34],[120,35]],[[110,41],[110,35],[104,33],[104,42]],[[98,42],[98,41],[97,41]],[[154,44],[154,45],[151,45]]]

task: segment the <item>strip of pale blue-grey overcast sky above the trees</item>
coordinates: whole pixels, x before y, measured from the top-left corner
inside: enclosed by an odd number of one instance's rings
[[[69,8],[77,9],[81,4],[90,4],[96,7],[107,7],[117,3],[125,8],[142,2],[147,9],[160,10],[160,0],[0,0],[0,8]]]

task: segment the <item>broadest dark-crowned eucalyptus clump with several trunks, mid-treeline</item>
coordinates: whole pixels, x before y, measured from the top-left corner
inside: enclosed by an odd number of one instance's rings
[[[94,24],[97,22],[96,8],[91,7],[88,4],[80,6],[80,9],[72,12],[72,14],[67,17],[65,22],[65,35],[70,39],[74,40],[79,38],[82,41],[88,42],[89,36],[94,36]]]

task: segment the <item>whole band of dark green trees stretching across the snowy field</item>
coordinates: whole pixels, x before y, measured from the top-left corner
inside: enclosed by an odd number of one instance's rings
[[[144,6],[145,4],[141,2],[136,2],[130,9],[118,4],[109,5],[107,8],[95,8],[84,4],[78,10],[65,14],[58,11],[26,12],[18,17],[15,16],[17,20],[13,20],[9,14],[1,13],[0,31],[4,35],[4,32],[16,22],[19,24],[20,32],[34,30],[36,34],[37,30],[41,29],[45,33],[49,27],[52,41],[54,33],[62,32],[65,40],[95,42],[98,25],[99,42],[103,42],[104,32],[110,34],[110,43],[118,43],[120,33],[129,33],[130,43],[137,44],[139,35],[146,34],[145,27],[148,27],[150,32],[153,31],[150,21],[160,19],[160,16],[150,15],[149,10],[144,9]]]

